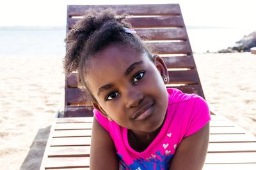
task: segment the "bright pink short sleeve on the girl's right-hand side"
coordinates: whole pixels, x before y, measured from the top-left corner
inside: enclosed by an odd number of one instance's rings
[[[204,127],[210,120],[210,110],[206,101],[200,96],[193,96],[191,113],[188,115],[188,125],[184,137],[187,137]]]

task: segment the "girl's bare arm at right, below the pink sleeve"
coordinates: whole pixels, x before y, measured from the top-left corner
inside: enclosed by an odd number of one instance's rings
[[[199,170],[204,161],[209,143],[209,123],[202,129],[182,139],[169,170]]]

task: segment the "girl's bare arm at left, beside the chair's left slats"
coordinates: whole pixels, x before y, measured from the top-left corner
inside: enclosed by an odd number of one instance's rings
[[[115,145],[109,133],[93,117],[90,169],[115,170],[119,168]]]

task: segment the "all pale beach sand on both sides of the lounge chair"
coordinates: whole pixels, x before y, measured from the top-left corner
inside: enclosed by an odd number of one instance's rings
[[[0,167],[39,169],[58,104],[61,56],[0,57]],[[256,136],[256,55],[195,54],[211,107]]]

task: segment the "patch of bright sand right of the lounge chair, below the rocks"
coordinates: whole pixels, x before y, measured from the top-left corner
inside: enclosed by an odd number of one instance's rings
[[[195,55],[205,99],[211,108],[256,136],[256,55]]]

